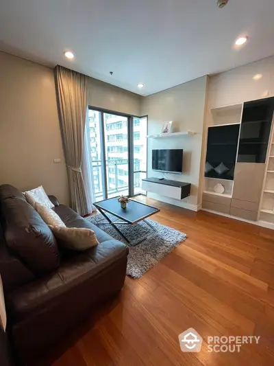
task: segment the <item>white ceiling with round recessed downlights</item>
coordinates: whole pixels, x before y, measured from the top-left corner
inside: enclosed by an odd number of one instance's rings
[[[273,14],[273,0],[0,0],[0,49],[149,95],[273,55]]]

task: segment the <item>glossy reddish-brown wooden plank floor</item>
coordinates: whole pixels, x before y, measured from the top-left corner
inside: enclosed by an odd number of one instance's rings
[[[53,352],[52,366],[274,365],[274,232],[222,216],[138,198],[154,220],[187,234],[141,279]],[[178,334],[195,328],[199,353],[182,353]],[[256,335],[239,353],[208,353],[208,336]],[[51,358],[53,357],[51,355]]]

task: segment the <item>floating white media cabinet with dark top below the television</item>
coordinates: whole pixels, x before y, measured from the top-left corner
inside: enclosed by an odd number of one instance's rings
[[[169,179],[142,179],[142,190],[169,198],[175,198],[175,200],[182,200],[190,196],[190,188],[190,183],[170,181]]]

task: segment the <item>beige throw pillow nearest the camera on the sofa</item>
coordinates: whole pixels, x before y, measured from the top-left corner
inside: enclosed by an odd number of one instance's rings
[[[73,251],[85,251],[99,244],[95,232],[84,227],[53,227],[49,225],[61,247]]]

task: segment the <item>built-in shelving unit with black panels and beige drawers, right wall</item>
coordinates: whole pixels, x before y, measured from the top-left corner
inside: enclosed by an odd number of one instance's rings
[[[203,209],[274,229],[273,111],[274,98],[208,111]],[[237,124],[240,128],[236,142],[232,137],[233,125]],[[234,144],[230,144],[232,141]],[[223,194],[214,192],[217,183],[225,187]]]

